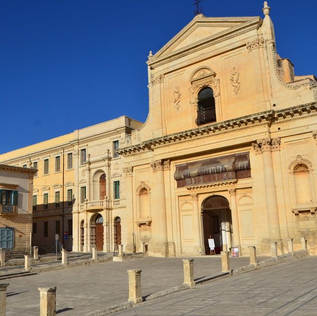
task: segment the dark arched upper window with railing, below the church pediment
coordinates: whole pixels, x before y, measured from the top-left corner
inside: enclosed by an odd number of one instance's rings
[[[216,121],[216,110],[213,90],[210,87],[200,90],[198,93],[197,125],[203,125]]]

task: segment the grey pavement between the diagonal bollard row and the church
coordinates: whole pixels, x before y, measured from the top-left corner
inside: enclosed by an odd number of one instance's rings
[[[58,315],[85,315],[128,299],[129,269],[142,269],[142,295],[183,283],[183,258],[142,258],[108,262],[10,279],[7,316],[38,316],[39,286],[56,286]],[[260,258],[261,259],[261,258]],[[230,258],[231,269],[249,263],[249,258]],[[194,276],[200,278],[221,271],[220,257],[194,260]]]

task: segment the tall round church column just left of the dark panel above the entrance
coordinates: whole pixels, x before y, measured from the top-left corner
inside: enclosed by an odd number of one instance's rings
[[[156,173],[157,205],[154,211],[155,220],[153,223],[153,241],[155,253],[166,256],[167,249],[167,225],[166,225],[166,204],[164,186],[164,164],[162,160],[157,160],[150,164],[153,172]],[[153,214],[153,213],[152,213]]]

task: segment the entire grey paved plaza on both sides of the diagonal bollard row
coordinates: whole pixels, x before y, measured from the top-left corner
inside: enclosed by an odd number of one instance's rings
[[[262,258],[259,258],[262,259]],[[230,258],[231,269],[249,258]],[[113,315],[317,315],[317,257],[227,277]],[[128,269],[142,269],[142,295],[183,283],[182,258],[143,258],[3,280],[7,316],[38,316],[39,286],[57,286],[56,314],[85,315],[128,299]],[[195,279],[221,271],[220,257],[194,260]]]

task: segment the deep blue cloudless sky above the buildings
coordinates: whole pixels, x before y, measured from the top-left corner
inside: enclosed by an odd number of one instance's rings
[[[121,115],[145,121],[147,65],[194,0],[0,0],[0,153]],[[263,17],[260,0],[203,0],[206,16]],[[317,1],[271,0],[278,53],[317,75]]]

